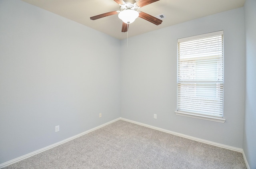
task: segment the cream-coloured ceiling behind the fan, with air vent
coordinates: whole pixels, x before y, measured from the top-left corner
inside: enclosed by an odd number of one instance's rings
[[[122,20],[118,15],[90,20],[91,16],[120,10],[114,0],[23,0],[57,15],[63,16],[90,28],[106,33],[117,39],[127,38],[127,32],[121,32]],[[138,0],[136,0],[138,1]],[[124,0],[124,2],[136,2]],[[128,37],[172,26],[196,18],[232,10],[244,6],[245,0],[159,0],[138,11],[152,16],[163,14],[162,24],[156,26],[142,18],[130,24]]]

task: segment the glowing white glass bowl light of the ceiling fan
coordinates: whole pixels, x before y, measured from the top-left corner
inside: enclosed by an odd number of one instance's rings
[[[126,24],[131,24],[138,18],[138,16],[139,13],[136,10],[131,9],[123,10],[118,14],[118,18]]]

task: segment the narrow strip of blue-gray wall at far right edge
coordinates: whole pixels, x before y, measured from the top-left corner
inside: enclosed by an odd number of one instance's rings
[[[256,0],[244,5],[246,30],[246,90],[243,149],[251,169],[256,168]]]

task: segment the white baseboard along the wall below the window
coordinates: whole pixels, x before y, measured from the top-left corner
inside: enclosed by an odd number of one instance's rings
[[[172,131],[165,130],[165,129],[162,129],[162,128],[150,126],[148,124],[143,124],[143,123],[140,123],[140,122],[135,122],[135,121],[132,121],[132,120],[128,120],[128,119],[125,119],[125,118],[120,118],[120,119],[124,120],[124,121],[127,121],[127,122],[134,123],[134,124],[138,124],[138,125],[141,125],[141,126],[145,126],[145,127],[148,127],[148,128],[152,128],[152,129],[155,129],[155,130],[159,130],[161,132],[166,132],[166,133],[173,134],[173,135],[176,135],[176,136],[180,136],[180,137],[183,137],[183,138],[188,138],[190,140],[200,141],[202,143],[206,143],[206,144],[210,144],[210,145],[215,145],[215,146],[226,148],[226,149],[230,149],[230,150],[233,150],[233,151],[238,151],[240,153],[242,153],[242,150],[243,150],[241,148],[232,147],[232,146],[229,146],[229,145],[224,145],[224,144],[215,143],[215,142],[208,141],[208,140],[203,140],[203,139],[200,139],[200,138],[191,137],[191,136],[188,136],[188,135],[185,135],[185,134],[180,134],[180,133],[172,132]]]

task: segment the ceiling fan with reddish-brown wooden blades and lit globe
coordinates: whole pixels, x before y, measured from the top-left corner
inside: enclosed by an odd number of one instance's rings
[[[123,0],[114,0],[114,1],[119,4],[120,11],[117,10],[117,11],[107,12],[104,14],[92,16],[90,17],[90,19],[97,20],[100,18],[104,18],[106,16],[118,14],[118,18],[120,18],[123,21],[122,32],[128,31],[129,24],[134,22],[138,17],[156,25],[160,25],[162,23],[162,20],[154,16],[151,16],[145,12],[137,11],[138,8],[141,8],[143,6],[156,2],[158,0],[139,0],[135,3],[124,2]]]

